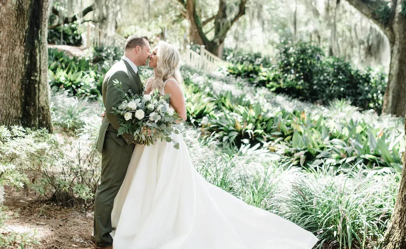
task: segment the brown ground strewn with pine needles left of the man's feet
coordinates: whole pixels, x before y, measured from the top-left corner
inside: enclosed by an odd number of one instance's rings
[[[9,208],[8,214],[17,215],[6,221],[7,230],[35,234],[34,239],[40,243],[26,249],[95,248],[91,236],[93,210],[41,202],[34,191],[27,193],[24,189],[6,188],[5,192],[4,204]]]

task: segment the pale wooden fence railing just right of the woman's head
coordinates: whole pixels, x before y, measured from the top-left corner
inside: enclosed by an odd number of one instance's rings
[[[215,73],[220,66],[225,64],[223,60],[207,51],[204,45],[200,46],[200,54],[190,49],[190,46],[187,46],[184,56],[184,61],[187,65],[207,73]]]

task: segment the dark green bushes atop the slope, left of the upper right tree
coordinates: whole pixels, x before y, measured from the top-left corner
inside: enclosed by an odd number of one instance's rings
[[[239,62],[229,66],[229,73],[299,100],[326,105],[333,99],[347,99],[378,113],[387,85],[383,72],[356,69],[350,62],[327,57],[320,47],[303,42],[281,45],[275,64],[269,67]]]

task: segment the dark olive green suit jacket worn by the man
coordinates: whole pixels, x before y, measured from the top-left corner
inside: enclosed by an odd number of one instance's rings
[[[117,88],[117,84],[113,82],[115,80],[121,82],[121,89]],[[104,138],[107,131],[116,133],[113,136],[114,140],[121,146],[123,146],[125,143],[131,144],[134,142],[134,136],[132,134],[125,133],[121,136],[117,136],[119,123],[117,116],[111,113],[112,108],[117,108],[123,101],[123,92],[127,93],[129,89],[131,89],[135,94],[141,94],[141,80],[138,74],[134,72],[130,64],[121,59],[110,68],[103,79],[102,96],[104,107],[106,107],[106,116],[103,119],[102,126],[100,127],[99,131],[99,137],[97,139],[96,148],[100,153],[102,153],[103,150]]]

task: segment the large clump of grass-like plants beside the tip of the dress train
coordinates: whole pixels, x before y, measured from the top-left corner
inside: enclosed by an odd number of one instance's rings
[[[374,248],[393,213],[399,175],[369,170],[309,172],[292,186],[284,217],[317,231],[317,248]]]

